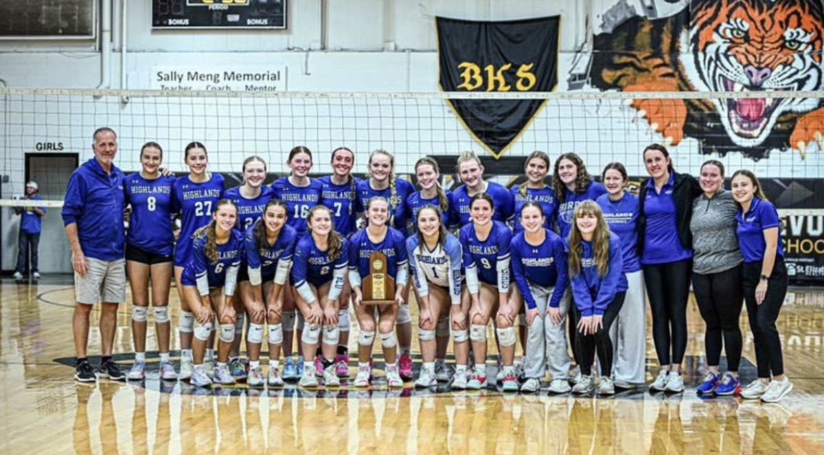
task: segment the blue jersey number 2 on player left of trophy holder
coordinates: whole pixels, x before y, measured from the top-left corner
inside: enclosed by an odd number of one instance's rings
[[[295,288],[311,283],[315,287],[332,280],[335,270],[345,269],[349,264],[349,242],[344,238],[339,256],[330,260],[327,251],[321,251],[315,245],[311,234],[304,234],[295,246],[292,256],[292,284]]]

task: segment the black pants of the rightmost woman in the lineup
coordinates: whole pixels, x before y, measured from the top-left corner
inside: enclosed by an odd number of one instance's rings
[[[767,280],[767,293],[761,305],[756,303],[756,286],[760,279],[761,261],[744,264],[744,301],[747,302],[752,341],[756,345],[758,377],[769,379],[770,373],[773,376],[784,374],[784,355],[781,354],[781,340],[775,327],[789,282],[784,258],[775,258],[773,273]]]

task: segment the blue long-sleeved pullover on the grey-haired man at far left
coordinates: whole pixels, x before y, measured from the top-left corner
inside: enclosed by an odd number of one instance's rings
[[[124,257],[123,179],[123,172],[115,165],[107,174],[95,157],[68,179],[61,215],[65,226],[77,223],[77,237],[85,256],[99,260]]]

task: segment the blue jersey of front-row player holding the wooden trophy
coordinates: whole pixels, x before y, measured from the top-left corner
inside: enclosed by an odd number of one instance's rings
[[[386,274],[396,279],[398,285],[405,285],[405,279],[403,283],[398,279],[398,271],[408,263],[406,240],[394,228],[386,230],[386,236],[380,243],[373,243],[369,240],[366,229],[355,232],[349,238],[349,270],[355,270],[361,278],[366,278],[370,271],[369,256],[376,251],[381,251],[386,255]]]

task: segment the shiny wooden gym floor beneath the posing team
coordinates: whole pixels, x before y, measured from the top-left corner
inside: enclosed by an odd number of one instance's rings
[[[387,392],[382,372],[368,391],[254,391],[241,385],[204,392],[156,378],[79,384],[68,366],[74,354],[68,280],[0,284],[0,453],[824,453],[820,289],[790,291],[779,330],[795,388],[780,404],[762,405],[695,395],[703,361],[703,321],[695,303],[688,315],[690,387],[676,396],[505,396],[446,387],[420,392],[411,384]],[[172,307],[177,308],[174,290]],[[119,312],[115,340],[124,369],[132,351],[129,310]],[[178,312],[173,313],[176,327]],[[96,317],[94,312],[93,325]],[[741,325],[747,382],[755,375],[755,357],[746,312]],[[177,346],[176,335],[172,343]],[[155,346],[150,326],[148,347]],[[92,329],[89,353],[99,349],[99,333]],[[647,355],[651,380],[657,368],[649,336]]]

